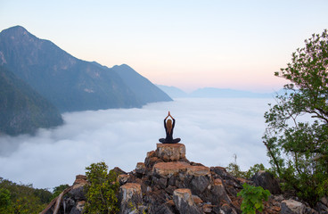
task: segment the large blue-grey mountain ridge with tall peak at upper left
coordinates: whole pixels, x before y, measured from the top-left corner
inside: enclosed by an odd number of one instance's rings
[[[131,73],[128,66],[122,66],[128,69],[123,79],[118,73],[125,71],[78,60],[21,26],[0,33],[0,65],[12,70],[61,112],[141,107],[145,103],[171,100],[160,89],[157,94],[149,91],[140,94],[137,86],[129,86],[131,82],[138,86],[154,85],[150,81],[140,83],[142,77],[129,77],[136,72]]]

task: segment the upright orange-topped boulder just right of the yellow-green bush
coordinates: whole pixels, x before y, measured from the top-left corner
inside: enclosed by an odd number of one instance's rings
[[[138,206],[143,204],[141,185],[135,183],[121,185],[119,188],[119,204],[119,213],[121,214],[138,210]]]

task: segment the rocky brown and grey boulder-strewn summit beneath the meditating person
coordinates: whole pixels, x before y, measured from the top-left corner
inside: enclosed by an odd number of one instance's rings
[[[295,197],[284,196],[275,178],[265,171],[259,171],[250,181],[231,176],[225,168],[209,168],[188,161],[184,144],[157,144],[156,151],[148,152],[134,171],[126,173],[118,168],[115,171],[119,174],[122,214],[239,214],[242,198],[237,193],[245,182],[272,193],[262,213],[328,213],[327,198],[318,202],[316,210],[311,209]],[[66,194],[62,193],[42,213],[82,213],[86,184],[85,176],[77,176]]]

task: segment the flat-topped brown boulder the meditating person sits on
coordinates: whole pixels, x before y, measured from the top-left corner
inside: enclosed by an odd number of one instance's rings
[[[157,144],[156,156],[163,161],[181,161],[185,159],[184,144]]]

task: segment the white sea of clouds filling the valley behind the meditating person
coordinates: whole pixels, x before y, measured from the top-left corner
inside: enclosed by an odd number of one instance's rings
[[[151,103],[142,109],[64,113],[64,125],[39,129],[36,136],[0,136],[0,177],[16,183],[52,188],[85,174],[91,163],[110,169],[135,169],[147,152],[165,137],[163,119],[176,119],[174,137],[186,146],[189,161],[243,170],[256,163],[269,166],[262,135],[263,115],[273,99],[184,98]]]

